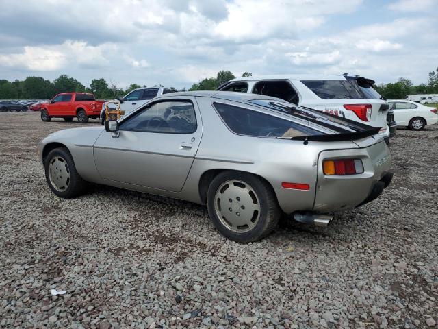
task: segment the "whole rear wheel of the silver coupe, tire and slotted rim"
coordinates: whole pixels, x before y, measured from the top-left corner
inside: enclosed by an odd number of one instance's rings
[[[207,192],[214,226],[228,239],[248,243],[263,239],[279,221],[281,211],[270,184],[241,171],[224,171]]]

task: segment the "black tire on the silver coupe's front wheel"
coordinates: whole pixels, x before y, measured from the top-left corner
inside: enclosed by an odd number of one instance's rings
[[[68,175],[70,175],[69,180],[66,183],[66,187],[61,190],[60,188],[57,188],[54,182],[56,178],[60,177],[60,175],[62,178],[62,170],[64,170],[64,168],[58,169],[58,167],[52,166],[51,168],[50,166],[51,162],[59,163],[60,158],[64,160],[64,162],[61,162],[61,164],[64,163],[66,166],[66,171]],[[44,171],[46,173],[47,184],[52,192],[58,197],[70,199],[77,197],[86,191],[87,182],[81,178],[79,173],[77,173],[73,157],[65,147],[57,147],[56,149],[50,151],[49,155],[44,161]],[[53,182],[51,181],[51,177],[53,177]]]

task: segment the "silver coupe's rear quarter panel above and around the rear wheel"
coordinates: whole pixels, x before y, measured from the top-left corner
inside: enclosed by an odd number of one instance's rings
[[[202,111],[204,132],[182,193],[190,201],[203,203],[199,195],[201,175],[211,169],[245,171],[267,180],[286,213],[311,210],[318,177],[318,155],[322,147],[352,147],[347,142],[304,145],[302,141],[240,136],[231,132],[211,105],[211,98],[196,97]],[[240,103],[218,102],[242,106]],[[309,191],[285,189],[282,182],[309,184]]]

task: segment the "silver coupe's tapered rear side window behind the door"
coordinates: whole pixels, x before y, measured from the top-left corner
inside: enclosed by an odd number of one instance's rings
[[[224,103],[214,103],[214,108],[235,134],[256,137],[298,137],[320,132],[270,114],[248,110]]]

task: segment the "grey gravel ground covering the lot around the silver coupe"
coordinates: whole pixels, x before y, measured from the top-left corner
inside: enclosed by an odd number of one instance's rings
[[[79,124],[0,123],[0,328],[437,328],[436,126],[398,130],[374,202],[242,245],[188,202],[55,197],[36,144]]]

